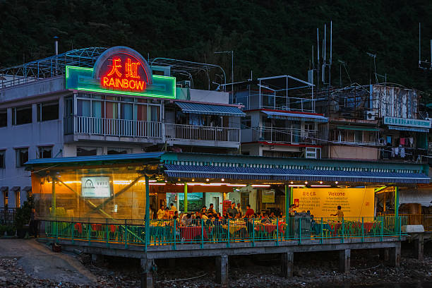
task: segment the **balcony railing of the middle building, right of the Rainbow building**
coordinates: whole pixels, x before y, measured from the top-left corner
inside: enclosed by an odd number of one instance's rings
[[[320,145],[323,142],[320,134],[318,130],[258,127],[252,130],[252,141]]]

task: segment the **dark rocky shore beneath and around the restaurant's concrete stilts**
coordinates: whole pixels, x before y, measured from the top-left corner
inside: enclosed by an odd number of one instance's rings
[[[381,262],[377,251],[352,251],[349,274],[337,271],[337,253],[296,253],[294,277],[279,276],[277,255],[230,258],[230,287],[356,287],[384,283],[432,282],[432,248],[426,246],[423,261],[416,260],[409,249],[402,250],[400,268]],[[0,259],[0,287],[139,287],[138,260],[104,258],[97,263],[91,257],[77,257],[96,277],[94,284],[56,283],[28,275],[17,258]],[[157,261],[159,287],[215,287],[213,258]],[[186,280],[182,280],[186,279]],[[349,286],[348,286],[349,284]]]

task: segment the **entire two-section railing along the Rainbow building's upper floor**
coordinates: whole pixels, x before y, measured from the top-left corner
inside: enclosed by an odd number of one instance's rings
[[[240,143],[240,129],[153,121],[71,116],[64,119],[64,134],[160,138],[161,140],[205,140]]]

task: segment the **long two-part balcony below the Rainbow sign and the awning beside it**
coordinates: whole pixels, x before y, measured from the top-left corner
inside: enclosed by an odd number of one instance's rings
[[[240,129],[155,121],[70,116],[64,119],[64,134],[73,140],[168,143],[238,148]]]

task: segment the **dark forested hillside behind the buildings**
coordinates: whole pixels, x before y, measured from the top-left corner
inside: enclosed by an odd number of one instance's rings
[[[333,21],[332,84],[340,64],[352,82],[367,84],[376,70],[390,83],[431,91],[432,73],[418,68],[431,59],[431,1],[0,1],[0,66],[49,56],[52,38],[60,52],[81,47],[126,45],[150,58],[220,64],[235,80],[289,73],[305,79],[316,49],[316,28]],[[322,39],[322,35],[320,38]],[[321,43],[320,43],[321,45]],[[314,52],[316,55],[316,51]],[[375,76],[372,76],[374,82]],[[383,78],[378,78],[383,82]],[[342,67],[342,85],[349,83]]]

